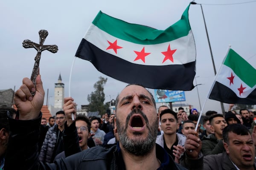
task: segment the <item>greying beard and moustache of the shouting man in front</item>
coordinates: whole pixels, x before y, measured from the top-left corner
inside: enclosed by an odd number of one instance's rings
[[[128,128],[128,122],[132,115],[134,114],[140,114],[146,122],[146,127],[148,129],[148,136],[146,139],[130,139],[127,136],[127,128]],[[158,130],[158,122],[157,119],[153,122],[152,126],[150,127],[148,123],[147,116],[143,113],[143,111],[133,110],[126,118],[125,127],[120,125],[120,122],[116,121],[118,136],[119,136],[119,142],[122,144],[122,146],[125,148],[126,151],[129,153],[132,153],[136,156],[145,156],[148,153],[152,151],[152,148],[155,145],[156,138],[157,138],[157,130]],[[134,133],[134,135],[140,135],[140,133]]]

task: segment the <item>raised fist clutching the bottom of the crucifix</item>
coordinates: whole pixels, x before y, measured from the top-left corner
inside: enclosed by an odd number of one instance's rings
[[[35,96],[32,96],[31,92],[35,92]],[[36,88],[29,78],[23,78],[22,85],[14,94],[14,102],[20,113],[20,120],[37,118],[44,104],[44,88],[41,75],[36,78]]]

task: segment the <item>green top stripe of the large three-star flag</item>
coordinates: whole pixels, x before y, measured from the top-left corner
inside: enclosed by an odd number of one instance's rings
[[[147,26],[127,23],[104,14],[102,11],[99,11],[93,20],[93,24],[113,37],[122,40],[143,45],[159,44],[176,40],[189,34],[189,30],[191,30],[188,14],[189,6],[183,12],[181,20],[166,30],[157,30]],[[168,21],[168,17],[166,17],[166,21]]]

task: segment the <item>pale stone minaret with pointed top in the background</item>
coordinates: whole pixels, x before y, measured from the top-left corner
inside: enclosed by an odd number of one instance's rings
[[[58,83],[55,83],[54,89],[54,108],[62,108],[64,105],[64,83],[61,82],[61,74],[58,78]]]

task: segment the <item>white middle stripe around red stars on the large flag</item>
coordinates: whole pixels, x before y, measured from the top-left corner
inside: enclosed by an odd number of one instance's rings
[[[122,59],[125,59],[128,62],[140,65],[182,65],[195,61],[195,41],[193,39],[191,30],[189,31],[188,36],[181,37],[171,42],[165,42],[157,45],[140,45],[117,39],[105,31],[102,31],[97,26],[91,24],[84,36],[84,39],[93,45],[96,45],[102,51],[117,57],[121,56]],[[117,54],[113,51],[113,49],[106,50],[109,46],[107,40],[112,43],[117,40],[117,45],[122,47],[117,49]],[[171,62],[169,59],[163,62],[165,56],[161,52],[167,51],[169,44],[171,50],[177,49],[173,54],[174,62]],[[137,57],[137,54],[134,51],[141,51],[143,47],[145,47],[146,53],[151,54],[145,57],[145,63],[141,59],[134,61],[134,59]]]

